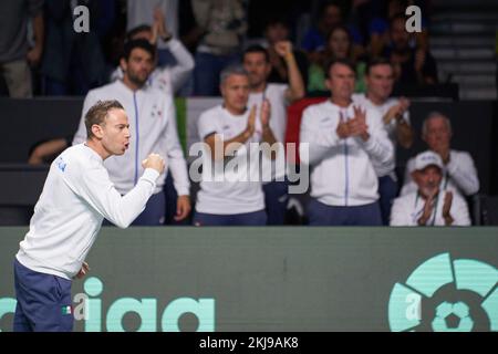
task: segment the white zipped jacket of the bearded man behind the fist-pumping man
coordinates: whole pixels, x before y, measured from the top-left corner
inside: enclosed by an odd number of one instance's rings
[[[132,134],[129,148],[123,156],[112,156],[104,162],[116,189],[122,195],[128,192],[136,185],[138,176],[143,174],[142,160],[151,153],[157,153],[165,158],[166,166],[173,174],[178,195],[188,195],[190,181],[187,163],[178,140],[175,105],[172,96],[165,95],[149,85],[133,92],[121,80],[92,90],[85,97],[83,114],[73,145],[86,140],[84,116],[98,100],[120,101],[128,116]],[[157,180],[155,192],[163,189],[165,174]]]

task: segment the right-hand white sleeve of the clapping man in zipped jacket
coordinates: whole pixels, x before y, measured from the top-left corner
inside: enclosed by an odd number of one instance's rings
[[[356,139],[363,145],[365,152],[376,166],[382,166],[385,170],[394,169],[394,146],[388,138],[387,132],[382,125],[381,116],[374,111],[367,111],[370,138],[364,142],[361,137]]]

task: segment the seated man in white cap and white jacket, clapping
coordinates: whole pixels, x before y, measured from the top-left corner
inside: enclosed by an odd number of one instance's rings
[[[391,226],[470,226],[465,200],[439,188],[443,160],[438,154],[418,154],[412,178],[417,190],[394,200]]]

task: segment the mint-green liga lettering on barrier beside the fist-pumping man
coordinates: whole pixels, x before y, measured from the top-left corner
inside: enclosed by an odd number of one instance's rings
[[[73,314],[75,320],[84,320],[85,332],[103,330],[102,294],[104,284],[98,278],[92,277],[84,282],[85,293],[74,296]],[[0,319],[15,311],[15,299],[0,299]],[[127,313],[136,313],[141,319],[137,332],[157,331],[157,299],[121,298],[114,301],[105,316],[108,332],[124,332],[123,317]],[[178,321],[181,315],[191,313],[197,316],[198,332],[215,332],[215,300],[180,298],[170,302],[163,311],[160,327],[163,332],[180,332]],[[1,332],[1,331],[0,331]]]

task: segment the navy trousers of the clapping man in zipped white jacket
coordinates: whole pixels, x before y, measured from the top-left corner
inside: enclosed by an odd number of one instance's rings
[[[382,226],[378,202],[334,207],[311,198],[308,205],[310,226]]]

